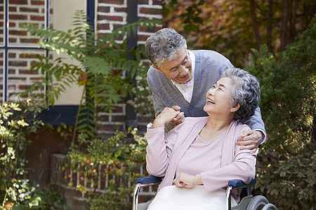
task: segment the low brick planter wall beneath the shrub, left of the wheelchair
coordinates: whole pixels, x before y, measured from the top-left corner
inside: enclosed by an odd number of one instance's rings
[[[88,198],[87,193],[80,193],[77,190],[77,186],[81,185],[86,188],[87,191],[93,191],[96,193],[108,193],[105,189],[109,186],[109,182],[113,178],[110,174],[105,173],[107,171],[107,165],[103,165],[98,167],[98,185],[91,187],[91,177],[87,177],[84,174],[84,169],[80,164],[77,165],[77,169],[72,169],[71,167],[64,167],[65,164],[65,155],[62,154],[51,154],[51,183],[56,183],[58,185],[59,191],[63,192],[65,195],[65,204],[70,209],[88,209],[88,205],[86,204],[86,200]],[[70,165],[70,161],[67,160]],[[145,172],[144,167],[140,166],[136,170],[139,174],[143,174],[143,176],[147,176],[147,172]],[[117,186],[121,186],[121,181],[117,180]],[[129,182],[127,184],[128,188],[132,188],[134,183]],[[139,202],[147,202],[157,193],[157,186],[148,186],[144,188],[140,188],[139,191]],[[126,197],[126,202],[132,204],[133,195]],[[128,208],[128,209],[131,209]]]

